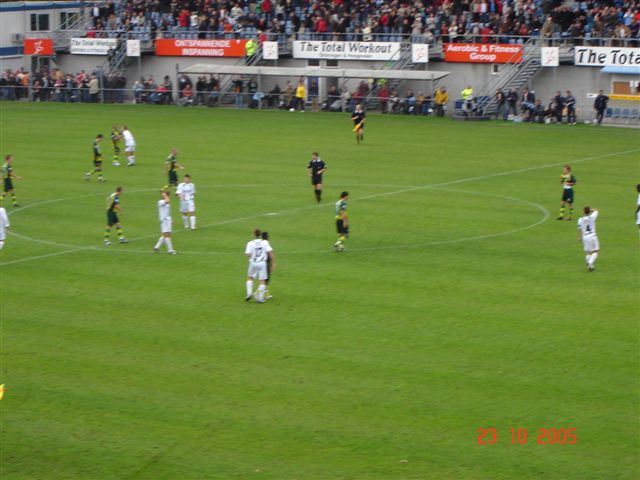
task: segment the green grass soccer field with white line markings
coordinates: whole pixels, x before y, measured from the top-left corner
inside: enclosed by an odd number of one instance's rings
[[[342,114],[0,109],[22,176],[0,253],[3,479],[640,475],[637,130],[372,114],[356,145]],[[111,166],[114,124],[133,168]],[[83,178],[97,133],[102,184]],[[198,216],[184,230],[172,202],[175,256],[152,251],[172,147]],[[565,163],[571,222],[555,220]],[[105,247],[117,185],[129,243]],[[255,227],[277,260],[262,305],[244,301]]]

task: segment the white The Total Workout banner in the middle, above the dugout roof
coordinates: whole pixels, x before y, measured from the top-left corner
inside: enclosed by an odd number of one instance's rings
[[[400,42],[294,41],[294,58],[329,60],[397,60]]]

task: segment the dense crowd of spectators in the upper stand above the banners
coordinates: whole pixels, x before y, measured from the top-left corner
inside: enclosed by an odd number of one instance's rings
[[[637,0],[108,0],[87,36],[146,32],[191,38],[346,34],[421,41],[517,36],[638,39]]]

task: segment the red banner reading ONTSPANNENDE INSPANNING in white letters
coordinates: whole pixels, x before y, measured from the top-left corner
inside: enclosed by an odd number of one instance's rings
[[[243,57],[246,40],[158,39],[156,55],[169,57]]]

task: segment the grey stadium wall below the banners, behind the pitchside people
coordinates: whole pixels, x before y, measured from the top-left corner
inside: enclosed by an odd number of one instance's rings
[[[89,55],[59,55],[58,66],[69,72],[77,72],[79,70],[92,71],[102,65],[104,57],[102,56],[89,56]],[[133,82],[139,77],[139,75],[145,78],[148,75],[158,80],[165,75],[171,76],[174,81],[176,79],[176,66],[178,68],[186,68],[197,63],[216,63],[218,65],[234,65],[239,62],[237,58],[217,58],[206,59],[197,57],[156,57],[156,56],[143,56],[141,58],[140,73],[138,72],[137,59],[132,59],[132,63],[127,69],[127,86],[130,88]],[[304,67],[307,66],[306,60],[299,59],[280,59],[278,66],[281,67]],[[325,66],[325,62],[321,62],[321,66]],[[358,61],[344,61],[340,62],[338,69],[348,68],[374,68],[376,70],[383,69],[384,62],[358,62]],[[470,64],[470,63],[448,63],[448,62],[431,62],[425,67],[427,70],[448,71],[450,74],[443,78],[440,82],[431,81],[405,81],[400,85],[398,95],[400,98],[406,95],[408,89],[412,89],[415,93],[425,92],[431,93],[432,86],[445,86],[449,91],[449,97],[453,101],[458,99],[460,92],[467,85],[471,85],[476,89],[480,89],[488,80],[488,78],[494,75],[493,66],[491,64]],[[501,66],[498,66],[498,75],[500,74]],[[192,81],[195,83],[195,75],[192,75]],[[610,92],[612,88],[612,82],[614,80],[624,81],[631,80],[632,78],[624,78],[630,76],[612,75],[601,72],[601,68],[598,67],[576,67],[573,65],[561,65],[557,68],[543,68],[538,74],[531,80],[529,87],[535,92],[536,98],[540,99],[544,105],[547,105],[550,98],[555,94],[557,90],[561,90],[563,93],[566,90],[571,90],[577,99],[577,108],[583,112],[581,120],[591,118],[591,111],[593,110],[593,99],[587,97],[587,94],[595,93],[599,89]],[[637,78],[636,78],[637,79]],[[297,78],[284,78],[284,77],[263,77],[263,90],[269,91],[277,83],[280,88],[283,88],[286,81],[289,80],[295,84]],[[340,79],[326,79],[326,81],[320,82],[321,96],[324,95],[332,83],[340,84]],[[359,80],[348,80],[347,86],[350,91],[355,90]],[[634,102],[633,105],[630,102],[616,102],[612,101],[610,106],[620,106],[623,108],[638,108],[638,105]],[[450,108],[450,111],[452,108]],[[588,112],[588,114],[586,113]]]

